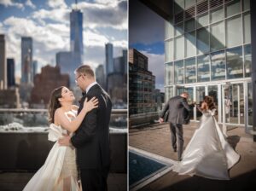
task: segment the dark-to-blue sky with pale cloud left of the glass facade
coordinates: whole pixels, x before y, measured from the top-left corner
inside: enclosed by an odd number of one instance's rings
[[[155,87],[164,92],[165,21],[138,0],[129,1],[129,49],[148,56],[148,70],[155,76]]]

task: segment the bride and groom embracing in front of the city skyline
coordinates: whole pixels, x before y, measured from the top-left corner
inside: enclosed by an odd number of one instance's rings
[[[112,103],[88,65],[75,70],[75,80],[83,95],[79,107],[67,87],[51,93],[48,138],[55,144],[25,191],[108,190]]]

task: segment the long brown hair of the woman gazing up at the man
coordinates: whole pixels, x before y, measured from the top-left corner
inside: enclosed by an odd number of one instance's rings
[[[63,86],[56,88],[50,94],[49,98],[49,123],[52,124],[55,122],[55,111],[57,108],[61,107],[59,98],[61,98],[61,90]]]

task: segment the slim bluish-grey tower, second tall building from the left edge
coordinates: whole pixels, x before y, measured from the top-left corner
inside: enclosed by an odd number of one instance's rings
[[[32,84],[32,38],[21,38],[21,83]]]

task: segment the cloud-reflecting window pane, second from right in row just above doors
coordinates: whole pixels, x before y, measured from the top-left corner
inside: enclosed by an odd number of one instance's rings
[[[227,49],[227,78],[242,78],[243,66],[242,66],[242,49],[236,47],[233,49]]]

